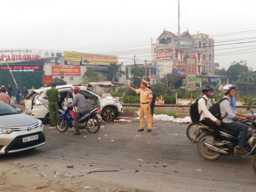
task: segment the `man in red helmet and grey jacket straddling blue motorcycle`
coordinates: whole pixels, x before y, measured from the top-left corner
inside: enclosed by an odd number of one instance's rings
[[[81,115],[87,111],[87,106],[85,104],[85,98],[84,95],[82,95],[80,93],[80,88],[79,87],[74,87],[73,88],[74,93],[75,93],[75,97],[74,97],[74,102],[71,103],[70,105],[66,104],[67,107],[75,107],[76,106],[76,116],[75,116],[75,130],[76,132],[73,133],[73,135],[80,135],[80,130],[79,130],[79,118],[81,117]]]

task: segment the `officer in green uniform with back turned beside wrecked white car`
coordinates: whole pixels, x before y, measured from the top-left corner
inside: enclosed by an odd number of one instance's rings
[[[44,95],[44,98],[49,100],[49,113],[51,118],[50,126],[56,126],[58,118],[58,101],[60,101],[60,92],[56,89],[56,85],[52,84],[52,88],[48,89]],[[55,113],[54,113],[55,112]]]

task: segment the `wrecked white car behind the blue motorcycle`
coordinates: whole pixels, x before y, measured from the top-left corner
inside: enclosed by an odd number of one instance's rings
[[[74,101],[75,93],[73,92],[74,85],[59,85],[56,89],[60,92],[60,101],[58,102],[59,114],[66,108],[65,104]],[[100,108],[100,115],[104,121],[113,121],[117,116],[124,114],[123,106],[116,99],[107,99],[100,97],[99,94],[87,89],[85,86],[78,86],[80,93],[84,95],[88,109]],[[41,119],[43,123],[50,123],[50,114],[48,109],[48,100],[44,99],[45,92],[51,87],[34,89],[24,100],[25,113]],[[76,110],[76,108],[75,108]]]

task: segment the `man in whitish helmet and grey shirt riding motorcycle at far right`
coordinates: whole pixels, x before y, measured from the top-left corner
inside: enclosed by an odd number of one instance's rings
[[[224,94],[223,98],[228,98],[228,100],[223,100],[220,103],[220,113],[222,117],[221,126],[226,129],[240,131],[238,145],[235,147],[234,153],[246,154],[248,153],[248,151],[244,148],[244,143],[248,132],[248,125],[239,122],[234,122],[233,119],[248,119],[252,118],[252,115],[244,115],[237,113],[230,106],[232,97],[236,95],[235,88],[236,86],[232,84],[226,84],[222,87],[222,93]]]

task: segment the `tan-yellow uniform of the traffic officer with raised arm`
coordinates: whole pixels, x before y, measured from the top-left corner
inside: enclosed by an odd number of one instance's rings
[[[144,115],[146,116],[148,129],[152,129],[152,116],[150,115],[149,101],[153,98],[150,89],[136,89],[136,93],[140,94],[140,129],[144,129]],[[147,107],[149,108],[147,109]]]

